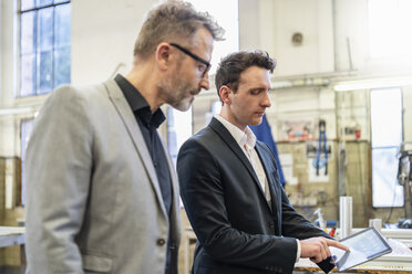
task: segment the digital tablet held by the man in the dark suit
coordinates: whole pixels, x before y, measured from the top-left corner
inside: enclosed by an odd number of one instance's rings
[[[392,252],[391,246],[374,228],[362,230],[339,242],[350,249],[350,251],[344,251],[329,247],[339,272]]]

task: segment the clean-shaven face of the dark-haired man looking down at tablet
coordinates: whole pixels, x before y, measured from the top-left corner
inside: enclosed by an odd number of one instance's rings
[[[228,95],[228,118],[244,130],[248,125],[259,125],[265,109],[271,106],[269,98],[270,75],[264,67],[250,66],[240,74],[236,93]]]

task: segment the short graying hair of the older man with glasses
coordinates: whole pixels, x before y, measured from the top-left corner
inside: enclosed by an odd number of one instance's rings
[[[148,12],[134,44],[134,56],[145,60],[159,43],[185,42],[203,27],[214,40],[223,40],[225,30],[207,12],[196,11],[188,2],[166,1]]]

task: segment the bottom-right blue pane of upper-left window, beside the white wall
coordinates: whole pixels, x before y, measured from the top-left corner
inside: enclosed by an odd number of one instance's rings
[[[71,48],[60,48],[54,52],[54,87],[70,83]]]

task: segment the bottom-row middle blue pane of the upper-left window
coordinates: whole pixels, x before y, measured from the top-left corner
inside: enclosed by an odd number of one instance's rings
[[[52,51],[41,52],[39,55],[39,71],[38,71],[38,94],[44,94],[52,91],[52,68],[53,54]]]

